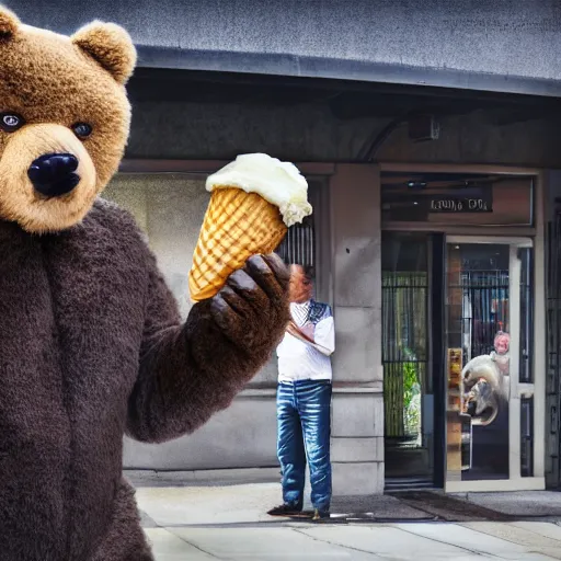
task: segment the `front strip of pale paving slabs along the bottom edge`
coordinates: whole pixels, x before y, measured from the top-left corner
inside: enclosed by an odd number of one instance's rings
[[[158,561],[561,559],[559,526],[516,524],[174,527],[146,533]]]

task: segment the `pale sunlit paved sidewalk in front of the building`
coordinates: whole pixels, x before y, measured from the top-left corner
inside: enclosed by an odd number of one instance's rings
[[[561,560],[561,525],[554,518],[427,522],[426,513],[394,497],[378,497],[383,506],[378,517],[394,516],[396,522],[353,522],[340,515],[313,525],[268,517],[265,506],[277,504],[278,496],[276,483],[137,489],[158,561]],[[402,515],[410,522],[398,522]]]

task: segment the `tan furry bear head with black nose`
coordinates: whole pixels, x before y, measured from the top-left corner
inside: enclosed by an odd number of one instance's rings
[[[0,219],[45,233],[87,215],[123,158],[135,62],[118,25],[67,37],[0,7]]]

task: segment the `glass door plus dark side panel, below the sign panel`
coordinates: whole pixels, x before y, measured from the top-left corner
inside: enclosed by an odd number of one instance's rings
[[[529,239],[383,233],[389,489],[531,476],[531,273]]]

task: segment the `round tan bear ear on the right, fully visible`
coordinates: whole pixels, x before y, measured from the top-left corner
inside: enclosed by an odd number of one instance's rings
[[[130,35],[119,25],[92,22],[78,30],[70,38],[118,83],[125,84],[133,75],[136,49]]]

